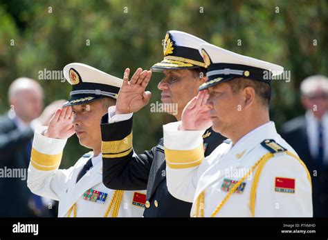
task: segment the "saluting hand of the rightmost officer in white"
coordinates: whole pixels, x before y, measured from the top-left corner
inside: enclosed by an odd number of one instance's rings
[[[189,101],[182,112],[180,130],[206,130],[212,126],[210,109],[205,104],[208,97],[208,91],[203,90]]]

